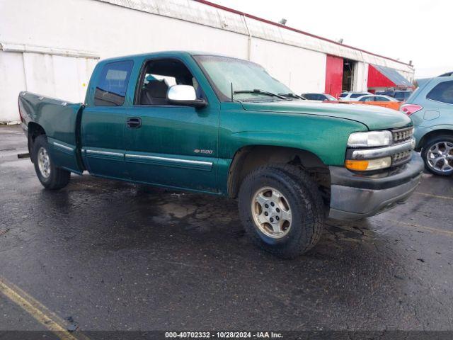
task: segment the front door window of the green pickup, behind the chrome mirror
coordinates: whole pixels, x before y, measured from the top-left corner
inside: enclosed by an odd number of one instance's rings
[[[170,105],[167,91],[173,85],[190,85],[197,98],[202,92],[197,80],[179,60],[150,60],[146,62],[135,98],[135,105]]]

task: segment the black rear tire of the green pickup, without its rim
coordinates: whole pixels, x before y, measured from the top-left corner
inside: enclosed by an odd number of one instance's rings
[[[39,160],[38,160],[38,153],[41,149],[45,150],[49,157],[49,165],[48,169],[50,169],[50,173],[48,176],[41,171]],[[42,186],[50,190],[57,190],[64,188],[68,185],[69,179],[71,179],[71,173],[67,170],[57,168],[52,161],[52,157],[50,156],[49,145],[47,143],[47,137],[45,135],[39,135],[35,138],[35,142],[33,143],[33,164],[35,164],[35,171],[38,179],[40,180]]]

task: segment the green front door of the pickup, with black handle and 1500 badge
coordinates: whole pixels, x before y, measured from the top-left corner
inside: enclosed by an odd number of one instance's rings
[[[167,103],[170,86],[194,86],[208,101],[188,65],[176,58],[144,61],[134,105],[127,110],[125,164],[132,180],[217,191],[219,106]]]

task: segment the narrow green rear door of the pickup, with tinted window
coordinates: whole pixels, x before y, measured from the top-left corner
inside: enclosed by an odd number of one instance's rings
[[[134,62],[122,60],[96,67],[81,118],[82,157],[97,176],[129,179],[125,166],[126,92]]]

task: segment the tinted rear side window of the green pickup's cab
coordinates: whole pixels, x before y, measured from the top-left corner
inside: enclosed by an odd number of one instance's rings
[[[94,94],[95,106],[122,106],[134,62],[110,62],[105,64]]]

